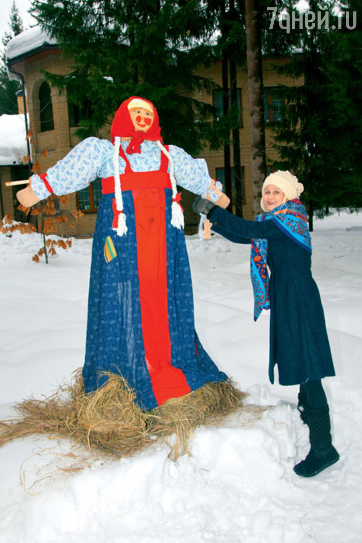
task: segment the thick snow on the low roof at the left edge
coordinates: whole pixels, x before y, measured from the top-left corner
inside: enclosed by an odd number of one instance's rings
[[[24,115],[1,115],[0,166],[22,164],[27,154]]]

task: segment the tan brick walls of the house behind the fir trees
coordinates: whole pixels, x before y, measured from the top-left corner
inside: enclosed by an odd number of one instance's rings
[[[264,86],[271,87],[278,84],[302,85],[303,80],[294,80],[284,75],[278,75],[274,69],[275,65],[281,65],[288,62],[288,59],[264,59],[263,60],[263,78]],[[25,75],[27,85],[27,103],[30,117],[30,127],[33,134],[33,162],[40,162],[40,172],[45,172],[47,168],[53,166],[58,160],[65,156],[69,150],[78,143],[74,136],[73,128],[69,128],[68,105],[65,94],[59,94],[58,89],[53,88],[52,104],[54,117],[54,130],[41,132],[40,130],[40,104],[39,89],[45,80],[41,71],[50,73],[66,74],[71,71],[71,61],[63,58],[59,50],[48,50],[37,54],[24,61],[22,70]],[[221,87],[221,62],[215,62],[209,68],[199,67],[198,73],[204,77],[210,78]],[[242,68],[237,72],[237,86],[242,92],[243,108],[243,127],[240,128],[240,154],[244,171],[244,217],[252,219],[252,180],[251,180],[251,154],[250,154],[250,123],[249,123],[249,97],[247,92],[247,73]],[[195,98],[212,103],[212,96],[196,93]],[[101,137],[109,137],[110,127],[104,127]],[[272,148],[271,128],[266,127],[266,155],[271,162],[277,159],[277,151]],[[43,156],[42,151],[47,151],[47,156]],[[207,161],[209,173],[212,178],[216,178],[216,169],[224,167],[223,149],[218,151],[205,149],[200,155]],[[231,165],[233,166],[233,153],[231,146]],[[192,211],[193,195],[183,191],[182,200],[185,210],[185,219],[188,224],[186,233],[194,233],[197,230],[198,216]],[[77,207],[76,195],[69,197],[68,209],[70,211]],[[94,230],[96,213],[87,212],[84,217],[78,220],[74,229],[65,226],[63,232],[65,235],[88,235]]]

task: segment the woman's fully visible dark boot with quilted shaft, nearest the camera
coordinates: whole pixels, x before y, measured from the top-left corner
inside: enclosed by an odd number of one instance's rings
[[[339,460],[339,454],[332,445],[329,407],[307,408],[306,414],[310,451],[305,460],[294,466],[294,471],[301,477],[313,477],[328,466],[335,464]]]

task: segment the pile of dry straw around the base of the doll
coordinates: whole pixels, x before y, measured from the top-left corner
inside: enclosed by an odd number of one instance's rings
[[[245,393],[231,381],[205,386],[143,412],[136,394],[120,375],[106,374],[106,383],[85,394],[81,371],[71,384],[43,400],[17,403],[14,418],[0,422],[0,446],[30,434],[72,438],[113,456],[131,456],[157,440],[173,436],[170,458],[189,453],[196,427],[217,424],[243,405]]]

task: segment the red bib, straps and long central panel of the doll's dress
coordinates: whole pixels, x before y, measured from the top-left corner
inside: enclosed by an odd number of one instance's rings
[[[167,148],[167,146],[166,146]],[[145,362],[158,405],[172,397],[190,392],[183,372],[171,365],[171,342],[168,327],[167,249],[165,188],[171,189],[167,173],[168,159],[161,153],[161,166],[155,172],[133,172],[125,160],[120,175],[122,192],[132,191],[135,207],[139,298]],[[115,192],[114,178],[102,179],[102,193]],[[113,200],[113,211],[116,211]]]

